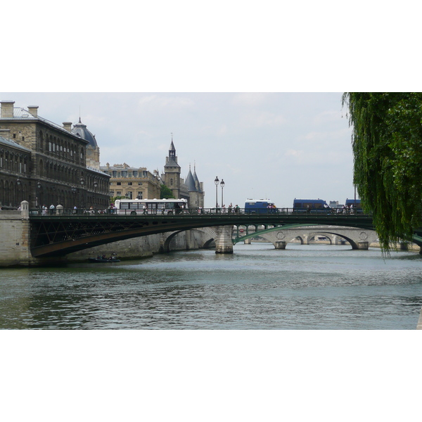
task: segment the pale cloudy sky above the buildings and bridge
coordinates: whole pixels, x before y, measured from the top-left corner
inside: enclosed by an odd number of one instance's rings
[[[292,207],[294,198],[354,197],[351,130],[342,93],[23,93],[52,122],[81,121],[96,136],[101,165],[164,169],[173,139],[181,176],[203,181],[205,207],[247,198]]]

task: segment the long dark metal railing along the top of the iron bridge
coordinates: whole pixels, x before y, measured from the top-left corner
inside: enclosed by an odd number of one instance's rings
[[[242,215],[350,215],[350,214],[360,214],[361,211],[355,210],[342,210],[335,208],[322,208],[322,209],[312,209],[312,210],[296,210],[294,208],[269,208],[269,209],[259,209],[259,210],[250,210],[245,208],[180,208],[173,210],[117,210],[110,208],[79,208],[79,209],[68,209],[68,208],[55,208],[54,210],[46,209],[36,209],[30,210],[31,216],[45,216],[45,217],[60,217],[60,216],[98,216],[98,215],[112,215],[115,217],[118,216],[154,216],[154,215],[179,215],[179,216],[199,216],[199,215],[222,215],[224,217],[233,216],[242,214]]]

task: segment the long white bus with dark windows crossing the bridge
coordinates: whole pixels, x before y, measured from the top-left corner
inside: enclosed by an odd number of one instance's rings
[[[117,214],[179,214],[188,207],[186,199],[117,199]]]

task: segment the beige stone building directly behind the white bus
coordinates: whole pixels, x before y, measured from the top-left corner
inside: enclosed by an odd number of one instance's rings
[[[161,180],[158,172],[153,173],[146,167],[130,167],[125,162],[100,167],[110,176],[110,196],[126,196],[129,199],[160,198]]]

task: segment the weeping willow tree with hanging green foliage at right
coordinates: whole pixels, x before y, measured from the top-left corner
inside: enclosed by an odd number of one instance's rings
[[[353,180],[381,248],[411,241],[422,215],[422,93],[347,92]]]

